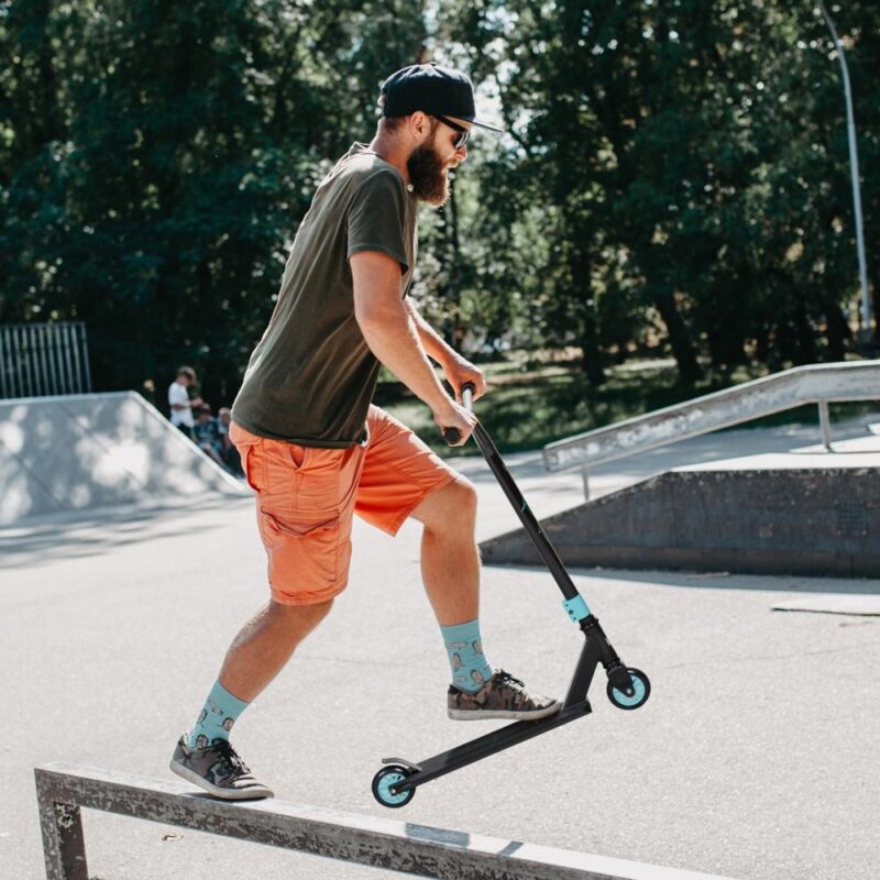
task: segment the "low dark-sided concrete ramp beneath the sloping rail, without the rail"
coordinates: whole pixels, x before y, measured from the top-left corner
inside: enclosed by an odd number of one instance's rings
[[[573,566],[880,576],[880,468],[834,458],[824,468],[746,459],[669,471],[543,528]],[[481,550],[490,564],[541,564],[522,529]]]

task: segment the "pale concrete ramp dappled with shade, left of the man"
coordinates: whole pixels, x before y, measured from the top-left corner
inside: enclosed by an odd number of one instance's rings
[[[248,492],[134,392],[0,400],[0,525]]]

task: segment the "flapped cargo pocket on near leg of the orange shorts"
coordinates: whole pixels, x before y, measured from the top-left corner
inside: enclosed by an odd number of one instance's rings
[[[288,515],[260,510],[260,534],[268,556],[272,586],[292,596],[336,583],[339,574],[339,517],[296,522]]]

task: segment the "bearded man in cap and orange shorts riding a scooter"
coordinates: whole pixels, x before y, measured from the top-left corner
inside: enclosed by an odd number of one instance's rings
[[[483,653],[473,486],[371,405],[385,364],[441,430],[458,428],[460,443],[473,430],[475,417],[447,395],[428,358],[457,394],[472,382],[482,395],[483,375],[407,294],[418,201],[447,200],[472,127],[492,127],[475,119],[470,79],[437,65],[393,74],[380,103],[373,141],[355,143],[318,187],[232,407],[230,436],[256,492],[272,597],[235,637],[170,763],[218,798],[272,796],[229,729],[345,587],[353,513],[391,535],[407,517],[425,527],[422,580],[452,672],[451,718],[541,718],[561,706],[493,672]]]

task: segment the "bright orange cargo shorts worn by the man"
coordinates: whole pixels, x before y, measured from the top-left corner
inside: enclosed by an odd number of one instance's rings
[[[230,426],[256,492],[272,597],[314,605],[349,582],[352,516],[396,535],[431,493],[457,474],[413,431],[371,406],[367,439],[349,449],[301,447]]]

